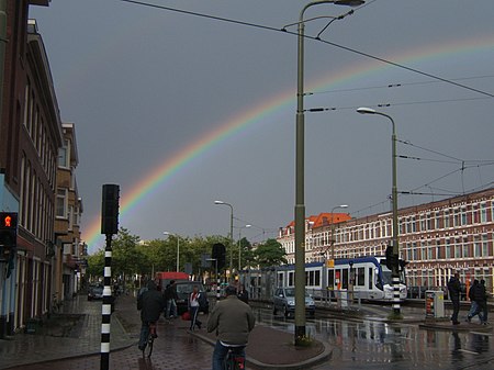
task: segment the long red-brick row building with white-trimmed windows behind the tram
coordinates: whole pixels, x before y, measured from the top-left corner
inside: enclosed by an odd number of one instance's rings
[[[330,259],[328,251],[334,258],[384,256],[392,240],[391,212],[333,225],[317,226],[310,220],[305,223],[306,262]],[[444,289],[458,271],[467,284],[473,278],[485,279],[494,293],[493,233],[494,188],[398,210],[400,257],[408,262],[407,284]],[[280,229],[278,242],[294,262],[292,224]]]

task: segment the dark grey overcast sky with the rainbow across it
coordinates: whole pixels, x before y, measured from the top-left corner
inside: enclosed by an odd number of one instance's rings
[[[252,225],[251,242],[293,220],[296,26],[277,30],[305,3],[31,7],[61,119],[76,124],[90,251],[104,246],[104,183],[120,184],[120,224],[143,239],[226,236],[229,208],[215,200],[233,205],[235,227]],[[305,19],[349,10],[319,4]],[[397,159],[397,188],[425,194],[400,195],[400,208],[493,186],[493,19],[492,0],[374,0],[305,41],[305,108],[329,109],[305,114],[307,216],[390,210],[391,124],[358,106],[391,115],[397,154],[416,158]],[[329,21],[307,22],[306,35]]]

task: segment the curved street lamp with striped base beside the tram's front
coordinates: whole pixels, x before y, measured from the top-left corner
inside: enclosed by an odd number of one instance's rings
[[[392,157],[392,190],[391,198],[393,200],[393,311],[395,315],[400,315],[400,273],[398,273],[398,237],[397,237],[397,191],[396,191],[396,127],[391,115],[375,111],[371,108],[359,108],[357,112],[360,114],[378,114],[388,117],[391,121],[391,157]]]

